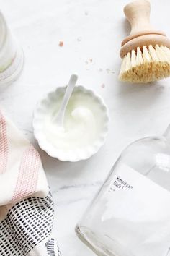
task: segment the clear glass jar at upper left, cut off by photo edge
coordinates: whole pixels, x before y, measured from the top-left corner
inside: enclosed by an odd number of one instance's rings
[[[23,51],[6,25],[0,12],[0,85],[9,84],[17,79],[22,70]]]

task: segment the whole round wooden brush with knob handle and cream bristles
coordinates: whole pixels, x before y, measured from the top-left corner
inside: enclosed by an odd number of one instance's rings
[[[150,2],[136,0],[125,6],[132,27],[122,41],[120,80],[153,82],[170,76],[170,40],[150,25]]]

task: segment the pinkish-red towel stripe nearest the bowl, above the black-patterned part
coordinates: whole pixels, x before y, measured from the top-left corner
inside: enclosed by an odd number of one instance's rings
[[[12,197],[12,202],[27,197],[35,192],[37,187],[38,171],[40,168],[40,155],[37,150],[30,145],[22,155],[19,167],[17,184]]]

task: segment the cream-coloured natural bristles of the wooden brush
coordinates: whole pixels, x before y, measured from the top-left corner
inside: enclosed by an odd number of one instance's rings
[[[170,49],[166,46],[143,46],[122,59],[120,80],[153,82],[170,76]]]

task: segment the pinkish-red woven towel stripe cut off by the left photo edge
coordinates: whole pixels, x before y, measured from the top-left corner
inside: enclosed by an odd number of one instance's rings
[[[8,140],[6,133],[6,120],[0,111],[0,174],[6,171],[8,158]]]

